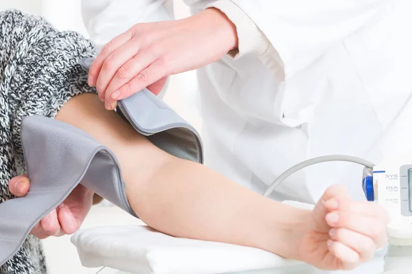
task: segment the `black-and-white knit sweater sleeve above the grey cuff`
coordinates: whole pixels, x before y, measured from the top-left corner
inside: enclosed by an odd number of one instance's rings
[[[69,99],[96,93],[87,84],[80,60],[93,45],[76,32],[59,32],[47,21],[17,10],[0,12],[0,113],[2,141],[22,155],[21,121],[26,116],[54,118]]]

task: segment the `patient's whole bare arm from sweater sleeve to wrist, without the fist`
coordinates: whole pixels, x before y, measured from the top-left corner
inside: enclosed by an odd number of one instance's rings
[[[88,132],[119,160],[126,194],[151,227],[294,258],[308,212],[266,199],[201,164],[174,158],[135,132],[95,95],[66,103],[56,119]]]

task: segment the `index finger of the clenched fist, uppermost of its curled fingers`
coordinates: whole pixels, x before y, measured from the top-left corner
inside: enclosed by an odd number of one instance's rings
[[[333,211],[326,214],[325,221],[334,229],[345,228],[369,236],[378,248],[383,247],[387,242],[387,225],[378,217]]]

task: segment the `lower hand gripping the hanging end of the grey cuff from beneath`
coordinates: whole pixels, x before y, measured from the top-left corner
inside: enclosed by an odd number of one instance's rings
[[[30,180],[26,175],[14,177],[9,182],[10,192],[16,197],[27,195],[29,188]],[[30,234],[39,239],[73,234],[82,225],[92,203],[93,192],[78,185],[58,208],[47,214],[33,227]]]

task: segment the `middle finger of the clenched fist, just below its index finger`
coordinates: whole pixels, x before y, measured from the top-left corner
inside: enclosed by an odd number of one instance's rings
[[[336,242],[341,242],[343,245],[349,247],[350,249],[356,251],[356,254],[348,256],[353,258],[354,261],[348,260],[350,263],[356,263],[357,260],[361,262],[366,262],[374,257],[376,251],[376,244],[374,240],[363,234],[354,232],[345,228],[330,229],[330,245],[336,244]],[[358,258],[356,258],[358,257]],[[341,258],[342,260],[342,258]]]

